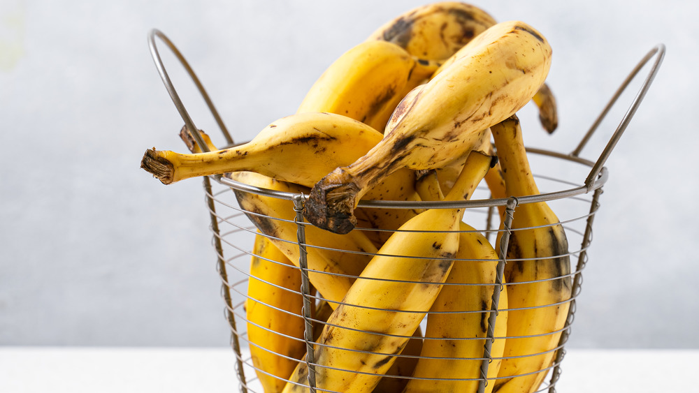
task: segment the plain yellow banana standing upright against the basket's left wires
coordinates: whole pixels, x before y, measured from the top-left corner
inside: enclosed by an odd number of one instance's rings
[[[266,393],[281,392],[305,354],[301,272],[267,237],[257,235],[247,280],[247,339]]]

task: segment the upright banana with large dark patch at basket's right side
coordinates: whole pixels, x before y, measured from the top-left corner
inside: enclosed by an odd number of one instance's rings
[[[517,116],[491,131],[507,195],[537,195]],[[535,392],[552,365],[568,316],[572,286],[568,241],[546,202],[519,205],[511,226],[505,265],[508,338],[493,392]],[[503,231],[497,244],[502,237]]]

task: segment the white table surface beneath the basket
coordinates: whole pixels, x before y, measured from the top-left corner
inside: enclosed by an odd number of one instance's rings
[[[0,392],[238,392],[229,348],[0,346]],[[699,392],[699,350],[567,348],[559,393]]]

